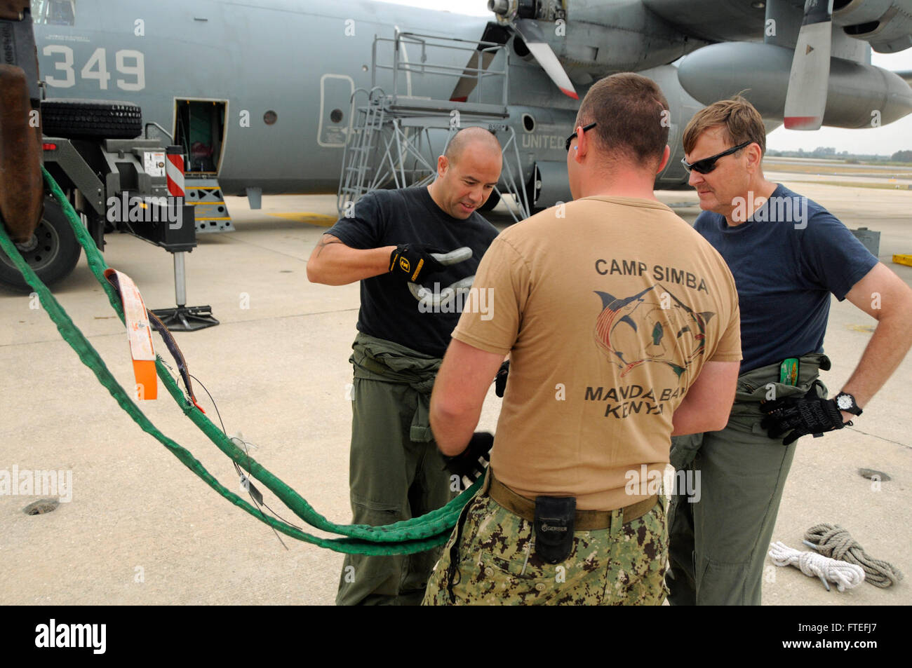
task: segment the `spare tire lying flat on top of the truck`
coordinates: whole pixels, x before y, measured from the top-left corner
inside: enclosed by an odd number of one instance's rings
[[[142,111],[131,102],[46,99],[41,122],[47,137],[133,139],[142,134]]]

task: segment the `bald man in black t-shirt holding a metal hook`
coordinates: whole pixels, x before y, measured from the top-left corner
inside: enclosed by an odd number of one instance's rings
[[[452,498],[451,478],[430,433],[440,360],[459,322],[463,294],[445,290],[474,275],[497,229],[478,213],[500,178],[501,147],[484,128],[464,128],[438,159],[428,187],[375,190],[323,235],[307,262],[314,283],[360,281],[349,487],[353,524],[419,517]],[[435,252],[472,257],[441,265]],[[409,283],[424,285],[419,301]],[[432,296],[433,295],[433,296]],[[434,297],[440,297],[435,300]],[[492,378],[493,380],[493,378]],[[418,605],[440,550],[346,556],[338,605]]]

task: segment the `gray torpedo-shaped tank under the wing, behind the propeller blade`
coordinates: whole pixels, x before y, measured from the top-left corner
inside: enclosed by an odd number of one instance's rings
[[[792,70],[792,49],[751,42],[704,46],[680,63],[681,85],[703,104],[744,97],[767,119],[782,119]],[[882,67],[830,58],[824,125],[871,128],[912,111],[912,88]]]

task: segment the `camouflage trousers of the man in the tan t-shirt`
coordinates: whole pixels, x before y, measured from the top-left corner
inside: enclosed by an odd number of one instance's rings
[[[443,547],[422,605],[661,605],[668,552],[661,498],[642,518],[610,529],[575,531],[570,556],[549,564],[535,554],[532,523],[479,494]],[[449,571],[453,571],[451,601]]]

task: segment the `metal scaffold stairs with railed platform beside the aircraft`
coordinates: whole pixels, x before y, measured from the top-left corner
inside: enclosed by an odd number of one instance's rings
[[[389,65],[378,62],[378,46],[385,44],[392,47]],[[409,50],[420,51],[419,62],[409,61],[405,56]],[[503,68],[491,67],[490,63],[498,62],[494,58],[502,53],[499,62]],[[475,57],[478,67],[472,67]],[[482,57],[489,67],[482,67]],[[514,221],[528,217],[522,161],[515,133],[507,122],[508,58],[503,45],[493,42],[466,42],[399,31],[393,39],[375,37],[372,87],[358,88],[351,97],[352,125],[337,191],[339,215],[351,215],[354,204],[371,190],[430,184],[437,174],[437,156],[456,132],[482,127],[492,131],[503,149],[503,171],[495,188],[498,196]],[[457,64],[467,59],[468,67]],[[391,92],[377,85],[378,74]],[[471,101],[411,95],[413,79],[420,79],[421,89],[426,92],[449,94],[456,80],[467,77],[475,79]],[[435,82],[435,78],[440,81]],[[485,81],[487,86],[482,86]],[[399,91],[403,83],[406,94]]]

